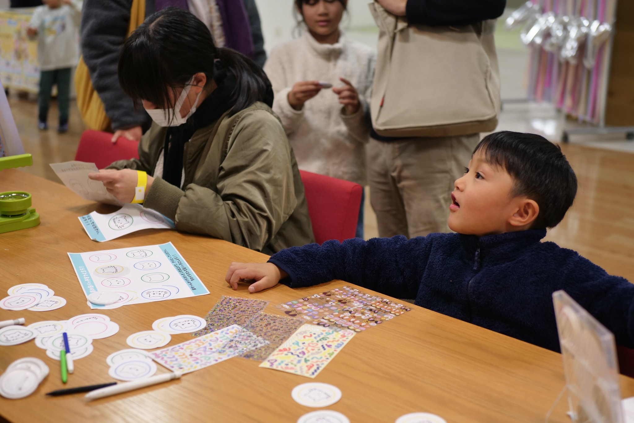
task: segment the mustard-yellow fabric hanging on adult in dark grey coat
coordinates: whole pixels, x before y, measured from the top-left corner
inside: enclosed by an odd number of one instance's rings
[[[132,34],[145,20],[145,0],[133,0],[130,9],[130,23],[127,28],[127,36]],[[88,67],[84,63],[83,56],[79,58],[77,70],[75,70],[75,91],[77,93],[77,108],[84,124],[89,129],[105,131],[110,128],[110,119],[103,108],[103,102],[90,80]]]

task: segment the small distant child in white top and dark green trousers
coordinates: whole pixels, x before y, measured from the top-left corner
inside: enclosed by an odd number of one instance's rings
[[[60,108],[58,132],[68,131],[70,103],[70,74],[77,65],[79,47],[77,29],[81,22],[81,0],[43,0],[33,13],[28,34],[37,36],[37,58],[40,63],[40,89],[38,94],[39,129],[48,129],[46,119],[51,101],[51,90],[57,85]]]

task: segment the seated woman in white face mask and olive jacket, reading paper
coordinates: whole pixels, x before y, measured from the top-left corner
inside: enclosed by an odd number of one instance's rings
[[[191,13],[167,8],[126,40],[119,82],[154,123],[139,159],[91,179],[178,230],[268,254],[314,242],[297,163],[270,108],[271,84],[254,62],[216,48]]]

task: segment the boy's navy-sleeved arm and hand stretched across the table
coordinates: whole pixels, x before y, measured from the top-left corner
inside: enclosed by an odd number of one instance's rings
[[[389,296],[413,299],[429,257],[428,244],[425,237],[408,240],[397,236],[291,247],[271,256],[269,263],[232,264],[226,281],[235,289],[238,280],[255,279],[253,290],[249,290],[257,292],[280,280],[296,288],[341,279]]]

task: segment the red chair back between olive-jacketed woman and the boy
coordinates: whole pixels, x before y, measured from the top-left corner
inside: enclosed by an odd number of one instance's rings
[[[343,241],[354,238],[363,187],[312,172],[299,173],[304,182],[308,214],[318,244],[332,239]]]

